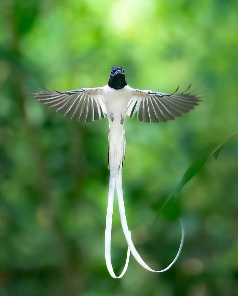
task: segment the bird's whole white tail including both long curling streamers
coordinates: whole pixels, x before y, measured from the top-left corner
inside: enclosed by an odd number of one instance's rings
[[[143,259],[140,257],[139,253],[137,252],[133,244],[133,241],[131,239],[131,232],[129,231],[127,221],[126,221],[126,212],[125,212],[125,206],[123,201],[123,190],[122,190],[122,173],[121,173],[123,161],[125,158],[125,149],[126,149],[124,127],[123,126],[120,126],[119,128],[113,127],[113,129],[109,127],[108,140],[109,140],[108,141],[108,151],[109,151],[108,160],[109,160],[110,180],[109,180],[109,193],[108,193],[106,230],[105,230],[105,259],[106,259],[107,269],[113,278],[121,278],[126,272],[126,269],[128,267],[129,257],[131,252],[131,254],[134,256],[137,262],[141,266],[143,266],[145,269],[152,272],[164,272],[175,263],[175,261],[177,260],[181,252],[183,241],[184,241],[184,227],[183,227],[182,220],[180,219],[181,227],[182,227],[181,243],[174,260],[165,269],[162,269],[162,270],[151,269],[143,261]],[[122,225],[123,233],[126,237],[126,241],[128,245],[126,264],[124,266],[122,273],[118,277],[115,275],[113,271],[112,262],[111,262],[112,213],[113,213],[113,200],[114,200],[115,187],[117,191],[121,225]]]

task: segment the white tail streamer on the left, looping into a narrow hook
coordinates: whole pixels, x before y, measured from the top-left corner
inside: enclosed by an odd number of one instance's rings
[[[109,181],[109,192],[108,192],[108,203],[107,203],[107,216],[106,216],[106,229],[105,229],[105,259],[107,270],[112,278],[121,278],[126,272],[126,269],[129,264],[130,258],[130,249],[127,248],[126,263],[123,268],[122,273],[117,277],[112,268],[111,260],[111,233],[112,233],[112,213],[113,213],[113,200],[114,200],[114,191],[115,191],[116,176],[110,174]]]

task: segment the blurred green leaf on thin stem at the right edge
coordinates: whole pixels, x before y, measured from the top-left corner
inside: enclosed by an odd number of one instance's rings
[[[175,199],[177,198],[179,192],[181,191],[181,189],[184,187],[184,185],[192,179],[192,177],[194,177],[199,171],[200,169],[203,167],[204,163],[206,162],[207,158],[210,155],[213,155],[215,157],[215,159],[217,159],[221,149],[223,148],[224,144],[226,144],[226,142],[228,142],[229,140],[231,140],[231,138],[233,138],[236,134],[238,133],[238,131],[234,132],[234,134],[232,134],[230,137],[228,137],[222,144],[220,144],[219,146],[217,146],[217,148],[215,150],[213,150],[212,152],[205,152],[203,154],[203,156],[201,156],[196,162],[194,162],[192,165],[190,165],[190,167],[187,169],[187,171],[184,173],[183,179],[181,180],[181,182],[179,182],[179,184],[174,188],[174,190],[170,193],[170,195],[167,197],[166,201],[164,202],[164,204],[162,205],[162,207],[165,206],[165,204],[167,204],[167,202],[174,197]]]

